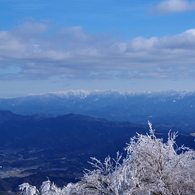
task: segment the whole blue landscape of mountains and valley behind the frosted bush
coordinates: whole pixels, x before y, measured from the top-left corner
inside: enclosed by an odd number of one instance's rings
[[[0,99],[0,194],[50,178],[62,187],[77,182],[90,157],[116,157],[136,133],[178,132],[178,146],[195,149],[194,94],[123,94],[85,91]],[[10,111],[11,110],[11,111]],[[70,114],[74,113],[74,114]],[[148,114],[147,114],[148,113]]]

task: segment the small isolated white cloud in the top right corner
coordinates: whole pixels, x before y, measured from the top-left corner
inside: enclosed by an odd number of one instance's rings
[[[195,1],[187,0],[164,0],[160,2],[153,10],[153,13],[167,14],[176,12],[186,12],[195,10]]]

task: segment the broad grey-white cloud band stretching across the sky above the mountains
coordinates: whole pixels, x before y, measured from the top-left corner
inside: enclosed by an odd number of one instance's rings
[[[0,79],[162,78],[195,76],[195,29],[167,37],[120,42],[87,34],[82,27],[59,28],[28,22],[0,31]],[[6,70],[12,71],[6,72]]]

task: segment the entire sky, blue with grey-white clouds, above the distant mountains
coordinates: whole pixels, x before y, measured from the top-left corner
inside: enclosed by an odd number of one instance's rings
[[[0,0],[0,97],[195,90],[194,0]]]

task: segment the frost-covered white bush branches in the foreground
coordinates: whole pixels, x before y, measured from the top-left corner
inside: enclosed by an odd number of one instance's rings
[[[166,143],[158,139],[149,122],[149,134],[137,134],[125,148],[124,159],[92,158],[94,170],[85,170],[76,184],[58,188],[49,180],[40,190],[28,183],[19,186],[22,195],[193,195],[195,151],[177,147],[176,133]]]

